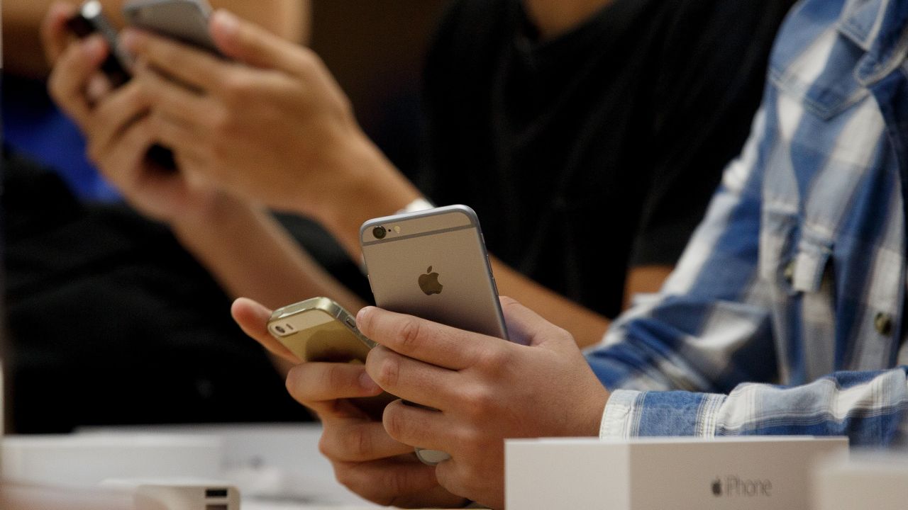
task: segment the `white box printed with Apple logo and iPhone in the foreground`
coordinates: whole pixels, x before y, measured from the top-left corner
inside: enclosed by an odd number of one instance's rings
[[[509,510],[804,510],[814,463],[846,437],[508,439]]]

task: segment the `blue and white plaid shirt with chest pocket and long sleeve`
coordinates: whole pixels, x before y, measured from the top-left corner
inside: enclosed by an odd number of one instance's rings
[[[602,436],[905,436],[906,53],[908,0],[795,6],[676,271],[587,354]]]

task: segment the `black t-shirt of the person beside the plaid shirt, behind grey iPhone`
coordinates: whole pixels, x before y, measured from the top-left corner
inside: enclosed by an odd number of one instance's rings
[[[459,0],[425,72],[439,204],[489,250],[608,317],[627,267],[674,264],[759,104],[793,0],[616,0],[539,41],[519,0]]]

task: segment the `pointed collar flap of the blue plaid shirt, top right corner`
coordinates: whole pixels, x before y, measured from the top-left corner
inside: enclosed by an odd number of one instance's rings
[[[838,30],[866,52],[857,68],[858,81],[876,82],[908,53],[908,0],[847,0]]]

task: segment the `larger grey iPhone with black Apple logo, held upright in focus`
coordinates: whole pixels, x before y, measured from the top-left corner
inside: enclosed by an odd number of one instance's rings
[[[452,205],[366,221],[362,257],[382,309],[508,339],[476,212]],[[427,464],[449,458],[417,448]]]

